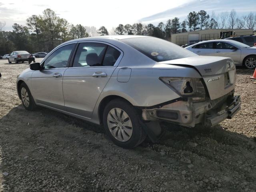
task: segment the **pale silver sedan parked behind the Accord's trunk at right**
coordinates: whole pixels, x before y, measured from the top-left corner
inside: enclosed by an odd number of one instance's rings
[[[236,65],[243,65],[248,69],[256,67],[256,47],[250,47],[234,40],[209,40],[185,49],[198,55],[230,57]]]

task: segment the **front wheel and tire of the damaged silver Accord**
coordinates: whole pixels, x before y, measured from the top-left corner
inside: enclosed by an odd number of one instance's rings
[[[36,104],[34,102],[34,99],[31,95],[31,92],[28,88],[28,86],[25,83],[22,83],[20,85],[20,97],[22,104],[26,110],[33,111],[36,108]]]

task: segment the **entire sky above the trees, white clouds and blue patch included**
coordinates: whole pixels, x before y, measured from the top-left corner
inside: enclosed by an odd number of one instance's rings
[[[26,25],[26,18],[40,15],[46,8],[69,23],[110,30],[118,24],[135,22],[157,25],[174,17],[182,22],[189,12],[200,10],[217,15],[235,9],[242,16],[256,13],[256,0],[0,0],[0,22],[6,22],[4,30],[11,31],[14,23]]]

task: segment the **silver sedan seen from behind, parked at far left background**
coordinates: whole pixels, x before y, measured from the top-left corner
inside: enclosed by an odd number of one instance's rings
[[[18,62],[24,62],[24,61],[28,61],[28,63],[31,63],[32,61],[35,62],[35,58],[32,54],[30,54],[27,51],[14,51],[10,54],[10,56],[8,57],[8,62],[12,63],[18,63]]]

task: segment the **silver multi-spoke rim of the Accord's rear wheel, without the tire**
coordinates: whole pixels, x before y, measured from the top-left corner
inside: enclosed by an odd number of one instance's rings
[[[132,136],[132,121],[128,114],[120,108],[112,108],[107,117],[108,129],[116,140],[128,141]]]

